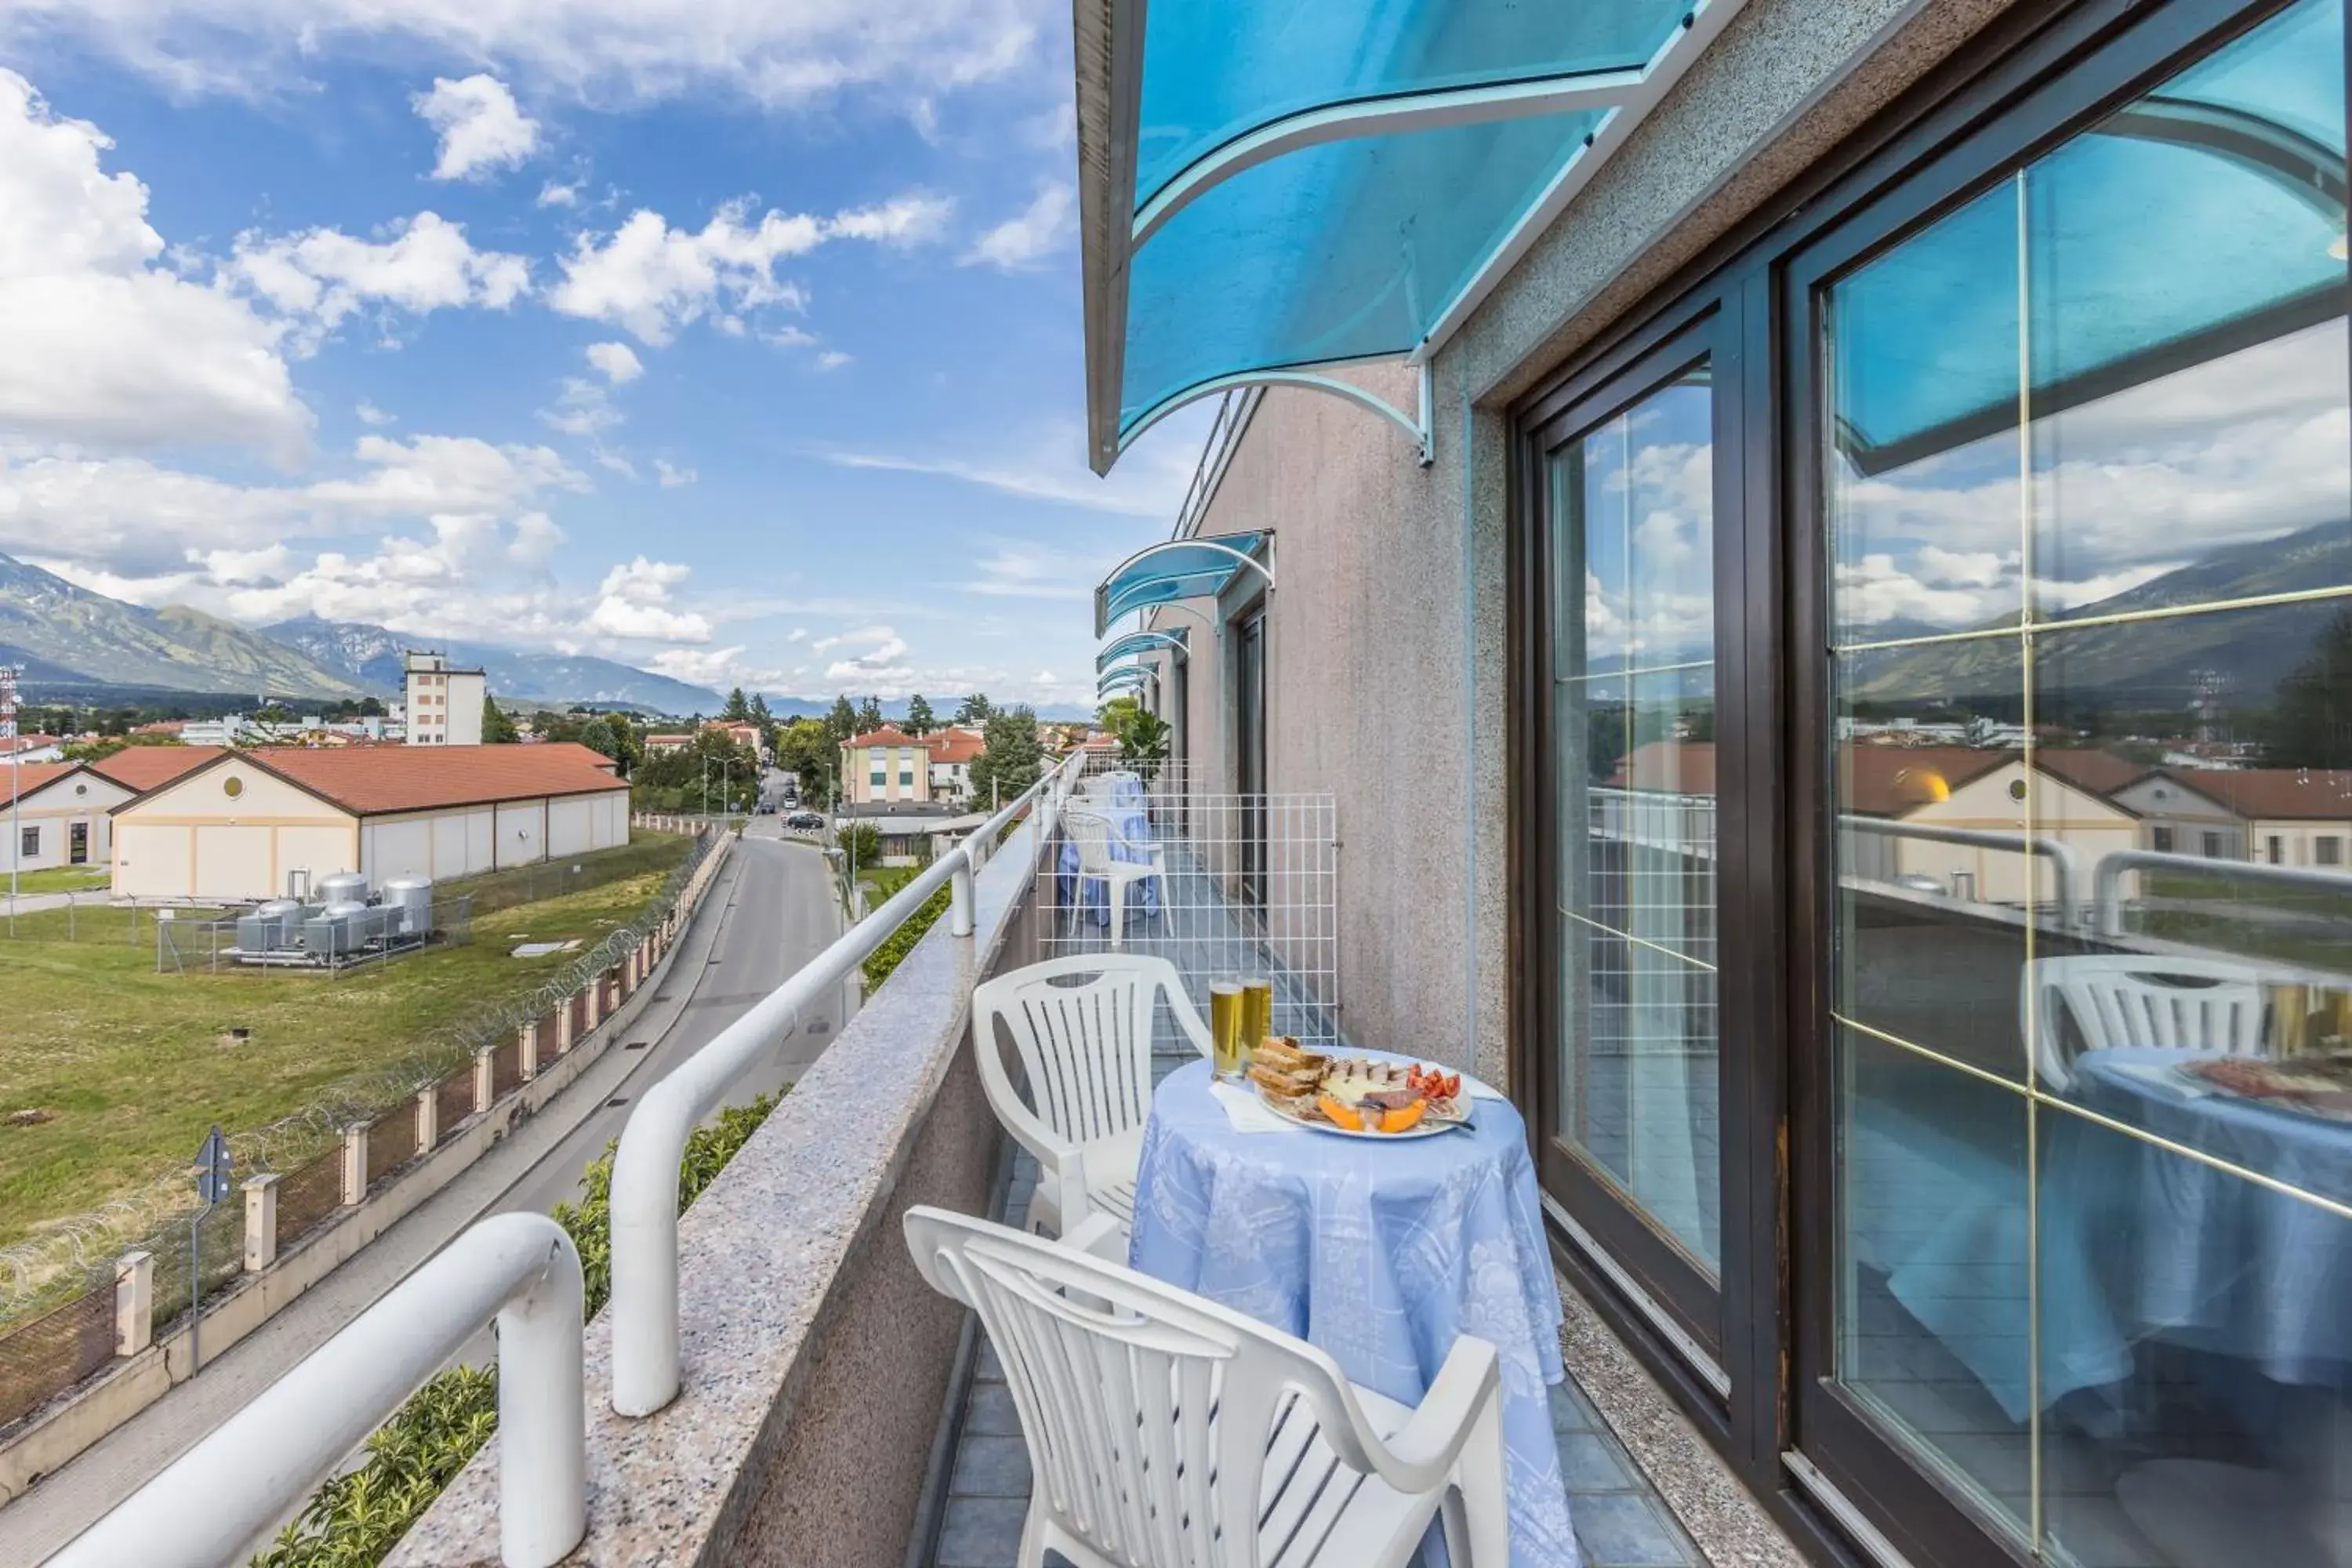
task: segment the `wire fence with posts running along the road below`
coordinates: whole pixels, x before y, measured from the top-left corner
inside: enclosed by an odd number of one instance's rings
[[[522,1084],[527,1025],[539,1025],[541,1048],[548,1051],[557,1039],[557,1013],[569,1009],[567,1037],[581,1039],[590,987],[612,985],[612,973],[680,907],[717,844],[720,832],[699,835],[633,922],[604,933],[529,994],[449,1025],[397,1063],[336,1084],[294,1117],[230,1135],[240,1178],[280,1175],[278,1246],[299,1241],[343,1206],[346,1128],[365,1126],[367,1175],[374,1187],[426,1152],[416,1145],[419,1095],[430,1091],[435,1145],[447,1143],[480,1110],[475,1058],[482,1051],[492,1053],[496,1098]],[[619,987],[604,997],[616,1001]],[[607,1013],[609,1006],[597,1009],[600,1018]],[[139,1227],[148,1227],[146,1234]],[[155,1260],[151,1321],[160,1331],[191,1307],[191,1253],[198,1302],[240,1276],[245,1204],[233,1197],[209,1208],[188,1206],[155,1225],[151,1206],[125,1199],[61,1220],[35,1241],[0,1248],[0,1427],[38,1410],[113,1359],[115,1262],[132,1251],[146,1251]]]

